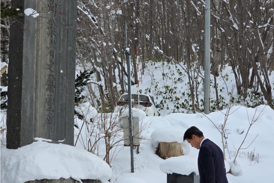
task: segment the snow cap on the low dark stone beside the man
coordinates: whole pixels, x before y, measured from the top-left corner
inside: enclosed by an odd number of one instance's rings
[[[197,165],[198,156],[196,155],[184,155],[178,157],[171,157],[166,159],[160,164],[160,170],[167,174],[182,174],[189,175],[195,172],[196,175],[199,174]]]

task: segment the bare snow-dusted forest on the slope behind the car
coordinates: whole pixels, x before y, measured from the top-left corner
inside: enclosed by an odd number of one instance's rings
[[[1,62],[7,64],[11,17],[22,16],[23,12],[21,9],[5,13],[10,3],[1,0]],[[151,87],[141,92],[154,90],[156,97],[161,95],[161,110],[171,107],[170,112],[203,111],[199,95],[204,80],[204,6],[204,1],[191,0],[78,0],[76,73],[78,77],[86,75],[81,83],[86,83],[87,88],[78,92],[76,105],[89,101],[99,111],[111,112],[119,96],[127,92],[128,74],[132,77],[131,85],[136,85],[149,65],[161,62],[162,67],[175,65],[175,70],[162,73],[163,79],[172,78],[174,73],[187,75],[187,91],[181,93],[186,98],[174,97],[180,77],[172,79],[171,84],[155,82],[151,75]],[[274,82],[269,79],[274,69],[273,7],[271,0],[211,1],[211,90],[215,91],[211,111],[228,106],[229,101],[219,94],[225,88],[216,82],[218,77],[230,79],[222,73],[226,66],[231,67],[235,81],[232,102],[274,108]],[[131,52],[131,73],[126,69],[126,47]],[[141,66],[139,78],[136,48]],[[6,72],[1,77],[1,86],[7,86]],[[1,93],[1,97],[5,96]],[[167,106],[168,102],[172,106]]]

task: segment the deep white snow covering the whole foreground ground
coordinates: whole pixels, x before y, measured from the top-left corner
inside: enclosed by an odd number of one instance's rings
[[[206,116],[219,127],[220,124],[224,123],[224,113],[226,113],[226,110],[212,112]],[[165,171],[186,174],[189,172],[198,173],[198,150],[191,148],[187,142],[183,142],[182,135],[190,126],[197,126],[204,132],[206,138],[214,141],[222,148],[221,134],[206,116],[199,113],[174,113],[167,116],[146,116],[143,118],[143,122],[148,122],[150,125],[141,133],[141,136],[150,137],[154,132],[152,135],[153,140],[142,140],[139,154],[136,153],[137,149],[135,149],[135,173],[130,172],[130,147],[121,146],[111,162],[111,182],[165,183],[167,181]],[[258,116],[260,117],[257,119]],[[257,120],[255,121],[255,119]],[[247,134],[249,122],[252,121],[255,121],[255,123]],[[230,110],[226,129],[230,133],[227,139],[228,149],[225,150],[226,160],[232,167],[234,174],[227,174],[228,181],[231,183],[272,182],[274,143],[271,134],[273,134],[274,129],[274,111],[269,106],[264,105],[258,106],[256,109],[234,106]],[[167,130],[167,133],[165,130]],[[179,136],[172,135],[179,132],[181,132]],[[242,146],[246,149],[240,150],[236,163],[233,164],[236,149],[239,148],[246,134],[247,137]],[[257,138],[255,138],[256,136]],[[181,143],[184,156],[167,160],[159,158],[155,154],[158,138],[166,142],[175,139]],[[47,142],[34,142],[18,150],[8,150],[5,146],[1,147],[1,183],[23,183],[31,177],[68,178],[71,176],[77,179],[88,178],[89,173],[87,171],[89,170],[95,171],[94,173],[98,177],[105,174],[101,180],[108,179],[109,168],[105,165],[103,167],[102,162],[97,164],[96,161],[100,159],[97,156],[62,144],[52,144],[54,147],[47,144]],[[60,148],[56,148],[58,146]],[[41,152],[42,147],[47,150]],[[69,148],[69,153],[64,148]],[[101,150],[103,151],[103,148]],[[255,157],[251,161],[248,154],[252,151]],[[40,168],[36,168],[36,165],[39,165]],[[13,179],[10,179],[10,176]]]

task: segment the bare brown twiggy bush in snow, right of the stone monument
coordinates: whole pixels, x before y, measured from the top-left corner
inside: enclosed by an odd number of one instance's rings
[[[74,146],[96,154],[109,166],[112,166],[113,160],[124,145],[121,120],[126,115],[107,112],[98,113],[89,102],[80,104],[79,107],[75,108],[75,111],[83,118],[75,118]],[[143,123],[142,118],[139,118],[139,120],[139,133],[141,134],[142,131],[148,128],[149,122]],[[140,136],[140,140],[142,139],[144,140],[146,137]]]

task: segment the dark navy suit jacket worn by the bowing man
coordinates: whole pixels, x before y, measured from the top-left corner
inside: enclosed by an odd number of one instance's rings
[[[198,156],[200,183],[228,183],[224,155],[219,146],[204,140]]]

